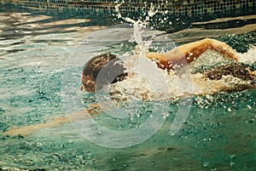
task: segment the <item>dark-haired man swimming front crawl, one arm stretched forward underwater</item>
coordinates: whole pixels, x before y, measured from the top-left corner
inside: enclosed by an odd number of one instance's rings
[[[218,52],[219,54],[224,56],[225,59],[235,61],[238,60],[236,51],[233,48],[231,48],[228,44],[210,38],[206,38],[194,43],[183,44],[182,46],[174,48],[165,54],[150,52],[147,54],[147,58],[155,62],[160,69],[170,71],[175,66],[181,66],[186,63],[191,63],[192,61],[200,57],[201,54],[207,51],[207,49],[212,49]],[[100,82],[96,85],[96,77],[104,66],[108,66],[108,68],[111,69],[111,73],[107,73],[106,75],[104,75],[108,77],[102,77],[102,80],[100,80]],[[241,80],[256,80],[255,71],[250,71],[248,68],[244,68],[240,64],[228,64],[225,66],[217,66],[216,68],[213,68],[211,71],[207,71],[204,74],[204,77],[197,77],[195,74],[195,77],[193,76],[193,82],[195,83],[195,85],[199,86],[200,89],[202,89],[203,87],[205,87],[207,83],[206,77],[209,79],[209,82],[211,82],[211,80],[220,79],[222,75],[238,77]],[[94,93],[97,89],[103,88],[103,86],[108,84],[109,82],[122,82],[125,81],[127,77],[129,77],[129,73],[126,72],[126,68],[122,64],[122,60],[120,60],[114,54],[97,55],[96,57],[90,59],[84,65],[82,73],[81,90]],[[239,88],[239,86],[237,87]],[[220,89],[224,88],[225,87],[223,84],[212,82],[211,88],[207,88],[207,90],[201,90],[199,94],[214,94],[217,93]],[[253,84],[253,88],[255,88],[255,84]],[[235,87],[234,90],[239,89],[236,89]],[[98,105],[96,104],[90,104],[89,109],[86,109],[87,113],[92,115],[95,115],[95,111],[97,110]],[[69,118],[70,117],[74,118],[72,120],[78,121],[82,119],[88,119],[88,116],[84,116],[83,111],[78,111],[73,114],[70,114]],[[42,128],[59,127],[62,123],[69,123],[69,118],[59,117],[38,125],[14,128],[4,132],[3,134],[8,134],[10,136],[21,134],[23,136],[26,136]]]

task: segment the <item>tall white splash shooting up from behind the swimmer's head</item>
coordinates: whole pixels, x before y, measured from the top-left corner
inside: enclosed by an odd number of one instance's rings
[[[118,2],[117,2],[118,3]],[[122,3],[125,3],[124,1]],[[125,66],[132,73],[128,81],[125,80],[121,83],[116,83],[115,88],[110,88],[110,92],[125,92],[122,95],[118,95],[121,99],[129,100],[153,100],[163,99],[168,96],[168,87],[166,86],[166,73],[160,71],[158,67],[147,59],[148,48],[152,44],[155,34],[150,36],[148,40],[143,40],[143,34],[148,27],[148,22],[154,14],[158,13],[157,9],[154,9],[153,3],[150,4],[150,9],[145,12],[145,19],[133,20],[129,17],[123,17],[119,12],[119,6],[122,3],[118,3],[115,6],[118,19],[125,20],[125,22],[131,23],[133,26],[133,35],[128,41],[129,43],[137,43],[137,46],[133,50],[132,54],[128,57],[125,56]],[[150,28],[153,29],[152,27]],[[150,68],[150,69],[148,69]],[[148,78],[151,78],[148,80]],[[143,87],[143,88],[142,88]]]

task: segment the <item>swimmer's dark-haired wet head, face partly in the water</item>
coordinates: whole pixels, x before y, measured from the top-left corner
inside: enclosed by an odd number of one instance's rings
[[[90,59],[83,69],[81,89],[90,93],[110,83],[125,79],[125,66],[114,54],[100,54]]]

